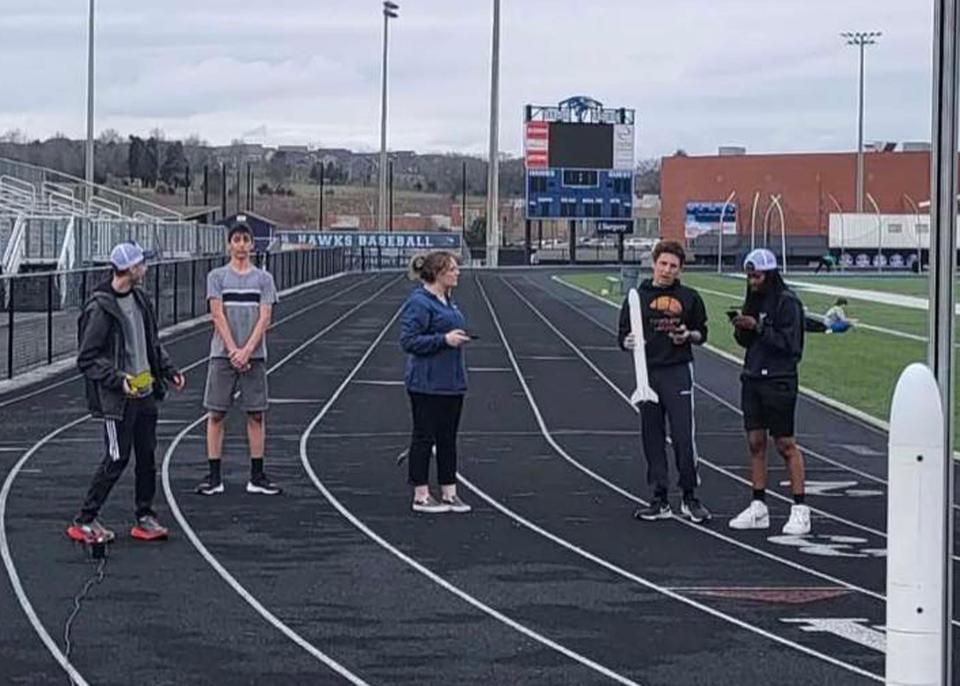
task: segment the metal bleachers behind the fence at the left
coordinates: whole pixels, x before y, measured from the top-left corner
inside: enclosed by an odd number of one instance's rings
[[[135,240],[161,259],[217,254],[220,227],[51,169],[0,158],[0,274],[104,264]]]

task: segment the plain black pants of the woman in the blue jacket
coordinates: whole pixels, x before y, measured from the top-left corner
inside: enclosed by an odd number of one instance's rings
[[[457,483],[457,429],[462,395],[410,393],[413,431],[410,435],[410,484],[430,481],[430,453],[437,447],[437,481],[441,486]]]

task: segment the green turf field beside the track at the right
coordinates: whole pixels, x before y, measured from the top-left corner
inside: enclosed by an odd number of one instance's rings
[[[598,295],[610,290],[610,273],[561,275],[564,281],[585,288]],[[811,281],[815,277],[803,277]],[[832,281],[833,279],[831,279]],[[843,280],[847,288],[852,283]],[[862,284],[866,280],[858,279]],[[745,284],[728,276],[685,273],[683,282],[697,288],[707,306],[709,343],[720,350],[742,357],[742,348],[733,339],[725,310],[743,302]],[[826,279],[817,278],[817,283]],[[924,281],[925,283],[925,281]],[[866,286],[860,286],[866,287]],[[879,290],[874,288],[874,290]],[[834,297],[799,292],[804,305],[823,313],[833,304]],[[608,293],[609,300],[620,304],[616,291]],[[847,308],[850,317],[884,329],[926,335],[926,312],[893,305],[879,305],[850,299]],[[911,362],[926,359],[926,343],[855,327],[843,335],[807,334],[800,383],[862,410],[884,421],[889,419],[893,389],[903,368]],[[960,405],[960,403],[958,403]]]

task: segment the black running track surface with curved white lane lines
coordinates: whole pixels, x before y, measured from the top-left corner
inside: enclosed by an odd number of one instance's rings
[[[610,385],[632,390],[632,362],[611,333],[616,310],[547,272],[466,272],[456,297],[480,338],[467,353],[460,492],[474,511],[415,515],[397,466],[409,410],[393,320],[410,288],[394,274],[350,275],[278,306],[268,338],[269,363],[281,363],[268,415],[267,469],[285,487],[276,498],[243,489],[238,417],[226,493],[193,494],[205,446],[202,422],[190,425],[202,413],[209,331],[168,342],[181,366],[197,361],[187,391],[161,410],[158,470],[167,457],[174,502],[158,478],[157,506],[172,537],[130,539],[124,478],[103,513],[118,541],[71,633],[70,662],[87,683],[349,683],[343,672],[369,684],[882,677],[882,433],[802,401],[808,479],[833,482],[808,496],[813,535],[780,537],[789,502],[772,497],[769,531],[732,531],[726,520],[749,497],[738,370],[704,352],[700,495],[714,521],[635,521],[647,489],[636,413]],[[0,584],[0,682],[11,684],[69,683],[22,602],[62,651],[73,598],[96,570],[64,528],[99,459],[100,426],[44,440],[85,414],[82,388],[71,381],[18,400],[35,390],[0,396],[0,508],[23,590]],[[784,478],[771,456],[771,490],[786,494],[775,486]],[[830,626],[846,629],[822,630]]]

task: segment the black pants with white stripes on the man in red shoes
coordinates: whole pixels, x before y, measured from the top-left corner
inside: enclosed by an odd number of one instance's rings
[[[103,421],[103,437],[106,455],[93,475],[79,520],[91,522],[96,518],[117,479],[126,469],[131,450],[136,454],[135,514],[137,517],[154,514],[152,507],[157,490],[157,469],[153,453],[157,447],[157,403],[153,396],[127,400],[122,421]]]

